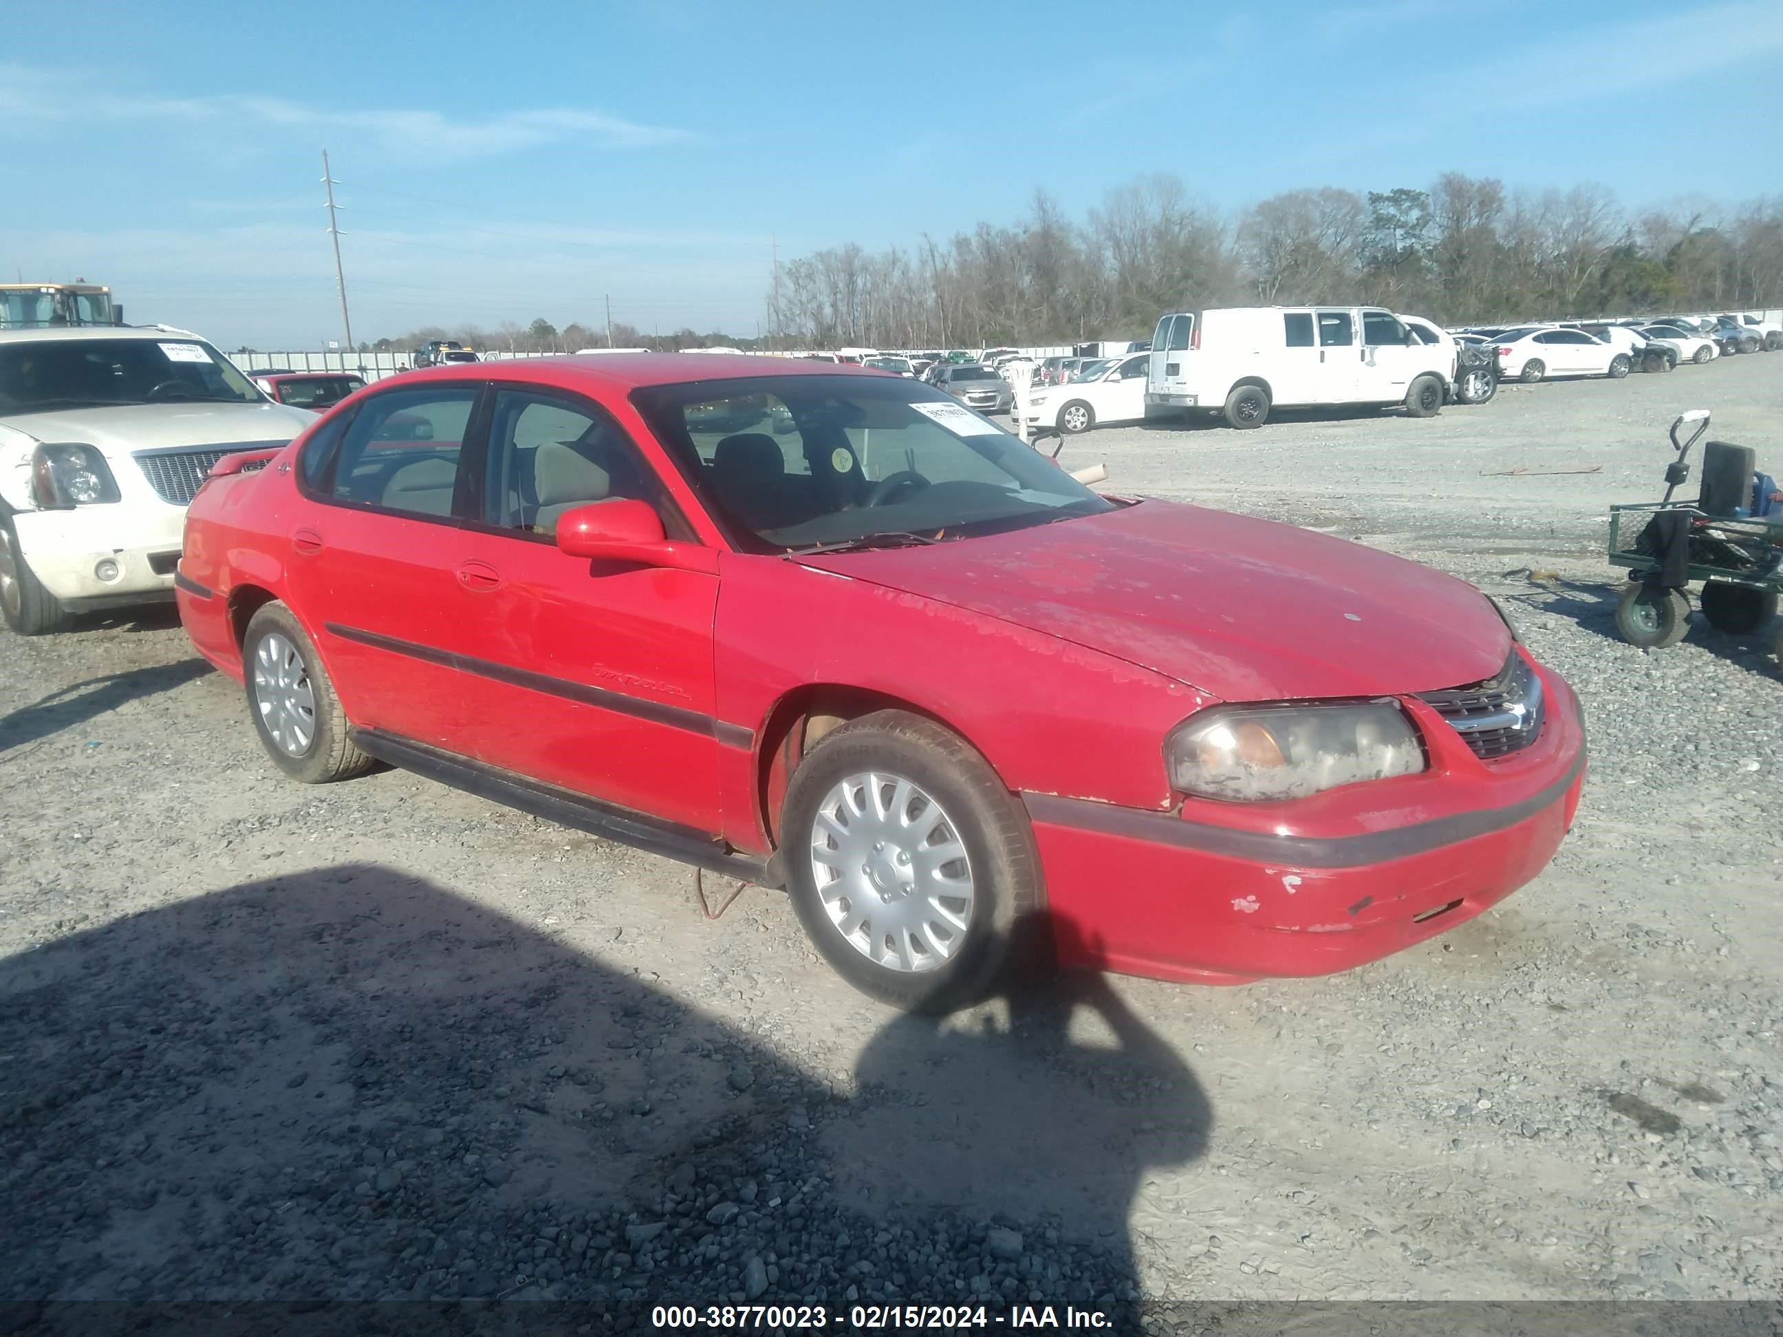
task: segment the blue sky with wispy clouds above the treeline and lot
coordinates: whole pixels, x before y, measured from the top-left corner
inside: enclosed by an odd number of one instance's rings
[[[0,273],[219,346],[544,316],[752,335],[774,255],[1442,171],[1783,191],[1783,0],[16,5]],[[1740,109],[1744,107],[1744,114]]]

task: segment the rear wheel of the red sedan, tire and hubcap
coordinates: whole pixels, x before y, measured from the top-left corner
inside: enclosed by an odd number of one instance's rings
[[[241,642],[248,711],[273,765],[305,784],[360,775],[374,765],[348,740],[346,713],[298,619],[264,604]]]

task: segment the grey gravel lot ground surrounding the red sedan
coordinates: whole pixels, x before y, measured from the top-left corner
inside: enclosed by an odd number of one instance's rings
[[[1783,472],[1783,357],[1066,446],[1508,595],[1580,690],[1555,865],[1334,979],[900,1020],[779,895],[280,779],[171,615],[0,638],[0,1298],[1774,1300],[1783,681],[1615,640],[1599,556],[1692,406]]]

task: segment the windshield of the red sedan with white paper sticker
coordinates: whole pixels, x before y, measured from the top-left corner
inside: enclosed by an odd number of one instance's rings
[[[754,551],[920,544],[1114,508],[913,380],[761,376],[631,398],[708,508]]]

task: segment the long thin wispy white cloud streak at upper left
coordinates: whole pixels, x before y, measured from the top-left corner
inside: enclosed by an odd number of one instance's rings
[[[640,125],[601,111],[540,107],[483,118],[453,118],[433,109],[335,111],[283,98],[221,93],[203,98],[169,98],[153,93],[112,93],[98,84],[80,86],[71,71],[0,64],[0,121],[7,134],[32,127],[105,121],[187,121],[230,125],[257,123],[287,130],[353,135],[387,150],[403,150],[435,160],[487,157],[535,148],[563,139],[583,139],[610,148],[649,148],[685,143],[695,135],[663,125]]]

